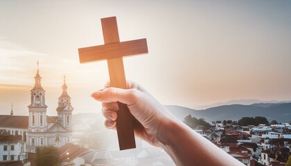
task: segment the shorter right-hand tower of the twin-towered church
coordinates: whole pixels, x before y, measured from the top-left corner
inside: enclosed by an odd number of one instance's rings
[[[72,111],[71,97],[67,93],[66,77],[64,76],[64,85],[62,86],[62,95],[58,102],[58,121],[68,131],[72,131]]]

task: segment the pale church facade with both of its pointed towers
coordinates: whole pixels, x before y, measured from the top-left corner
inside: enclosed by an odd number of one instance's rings
[[[35,86],[30,91],[28,106],[28,129],[26,132],[26,151],[35,153],[35,147],[53,145],[61,147],[72,142],[72,111],[71,98],[67,93],[64,80],[62,95],[56,109],[58,116],[46,115],[45,91],[41,85],[39,71],[35,75]]]

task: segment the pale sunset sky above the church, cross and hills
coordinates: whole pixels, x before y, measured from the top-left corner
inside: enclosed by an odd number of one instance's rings
[[[66,75],[73,113],[100,111],[90,95],[107,63],[80,64],[78,48],[104,44],[116,16],[121,42],[147,38],[125,75],[162,104],[290,100],[291,1],[0,1],[0,114],[28,115],[39,61],[48,115]]]

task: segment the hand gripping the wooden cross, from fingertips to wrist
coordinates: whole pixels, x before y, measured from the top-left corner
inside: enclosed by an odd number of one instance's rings
[[[159,146],[167,122],[174,118],[168,110],[150,95],[143,87],[127,81],[127,89],[110,87],[109,82],[105,89],[92,93],[92,98],[102,102],[103,116],[106,118],[105,127],[116,129],[118,118],[118,104],[127,104],[130,113],[140,123],[134,123],[134,133],[151,145]]]

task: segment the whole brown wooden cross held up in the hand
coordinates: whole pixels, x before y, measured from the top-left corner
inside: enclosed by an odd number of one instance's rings
[[[80,63],[107,59],[110,86],[127,89],[123,67],[123,57],[148,53],[146,39],[119,42],[116,17],[101,19],[104,45],[79,48]],[[126,104],[118,102],[119,111],[116,120],[119,149],[135,148],[135,118]]]

